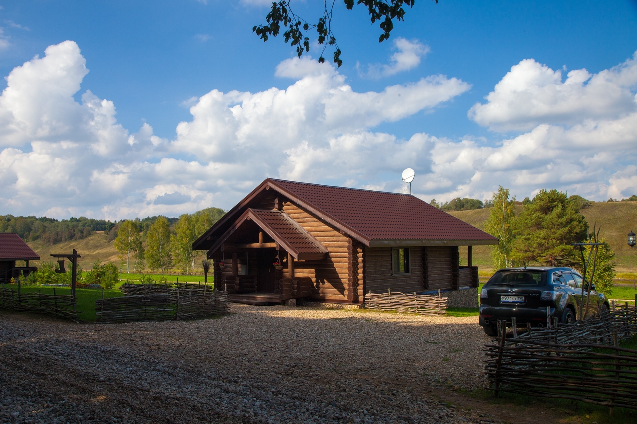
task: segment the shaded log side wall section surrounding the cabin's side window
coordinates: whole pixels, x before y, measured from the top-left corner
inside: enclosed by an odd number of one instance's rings
[[[413,293],[422,292],[422,248],[413,246],[409,248],[410,274],[392,275],[392,248],[366,248],[365,249],[365,292],[385,293],[387,289],[392,292]]]

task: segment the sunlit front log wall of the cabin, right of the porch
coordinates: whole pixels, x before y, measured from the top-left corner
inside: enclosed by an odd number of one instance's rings
[[[283,211],[329,250],[325,260],[300,261],[294,264],[295,278],[311,278],[311,298],[327,302],[347,302],[348,288],[351,288],[351,290],[356,290],[359,299],[362,300],[362,286],[359,288],[358,284],[360,272],[355,272],[354,269],[350,270],[350,258],[353,255],[361,255],[362,258],[362,252],[359,252],[357,247],[353,247],[352,239],[341,234],[317,216],[307,213],[290,202],[283,203]],[[358,271],[358,266],[356,266],[356,271]],[[351,275],[350,272],[352,272]],[[283,276],[287,277],[285,267],[283,268]],[[350,283],[350,278],[352,278],[352,283]],[[351,301],[354,299],[355,296],[352,295]]]

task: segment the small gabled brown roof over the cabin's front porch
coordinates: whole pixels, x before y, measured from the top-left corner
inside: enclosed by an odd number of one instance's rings
[[[217,240],[210,252],[224,246],[225,241],[241,227],[244,222],[252,220],[280,247],[285,249],[296,260],[317,260],[325,257],[327,248],[320,241],[311,236],[299,223],[292,220],[287,213],[268,209],[248,208],[243,215]],[[250,244],[258,248],[258,243]]]

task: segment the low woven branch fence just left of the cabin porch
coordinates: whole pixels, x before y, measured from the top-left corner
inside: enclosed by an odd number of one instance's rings
[[[133,293],[143,294],[97,299],[97,322],[190,320],[221,315],[228,310],[227,293],[212,290],[208,286],[202,286],[201,289],[141,286],[134,285]]]

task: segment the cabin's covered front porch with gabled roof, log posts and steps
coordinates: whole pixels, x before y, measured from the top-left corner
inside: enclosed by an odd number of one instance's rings
[[[208,258],[228,300],[266,305],[310,297],[311,278],[295,276],[295,265],[320,262],[327,253],[283,211],[248,208],[208,250]]]

